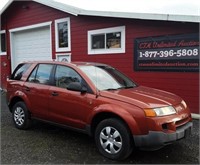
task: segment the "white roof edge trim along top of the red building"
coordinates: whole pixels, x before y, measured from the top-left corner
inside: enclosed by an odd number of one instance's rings
[[[0,11],[0,15],[13,3],[20,0],[9,0]],[[130,18],[141,20],[160,20],[160,21],[176,21],[176,22],[193,22],[200,23],[200,15],[173,15],[173,14],[154,14],[154,13],[133,13],[133,12],[112,12],[112,11],[95,11],[85,10],[75,6],[67,5],[54,0],[32,0],[48,7],[72,14],[74,16],[98,16],[98,17],[113,17],[113,18]]]

